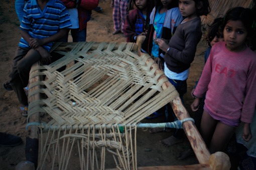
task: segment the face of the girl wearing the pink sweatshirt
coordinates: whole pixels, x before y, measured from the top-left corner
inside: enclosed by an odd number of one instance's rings
[[[245,47],[247,29],[240,20],[230,20],[224,27],[224,40],[226,48],[230,51],[239,52]]]

